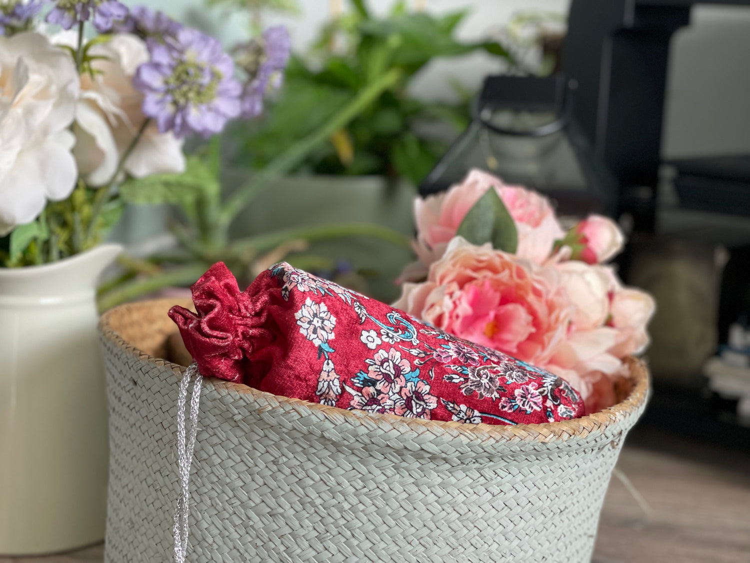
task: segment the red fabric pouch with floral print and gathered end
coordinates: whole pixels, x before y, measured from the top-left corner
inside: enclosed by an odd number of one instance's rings
[[[339,408],[466,423],[583,415],[561,378],[332,281],[272,266],[240,292],[223,263],[172,307],[202,375]]]

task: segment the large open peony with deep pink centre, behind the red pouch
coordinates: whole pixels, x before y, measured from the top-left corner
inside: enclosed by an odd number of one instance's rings
[[[395,306],[446,332],[544,366],[571,321],[554,269],[455,237]]]

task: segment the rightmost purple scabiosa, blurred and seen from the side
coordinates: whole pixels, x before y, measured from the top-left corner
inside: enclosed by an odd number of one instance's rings
[[[278,90],[284,80],[284,67],[290,56],[290,37],[284,26],[263,32],[261,41],[251,41],[235,50],[239,65],[248,79],[242,92],[242,115],[257,117],[263,113],[263,100]]]

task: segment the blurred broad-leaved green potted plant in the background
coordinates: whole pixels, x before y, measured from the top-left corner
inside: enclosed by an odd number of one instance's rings
[[[408,92],[410,80],[436,57],[475,50],[510,57],[499,44],[455,38],[465,11],[436,17],[408,12],[398,2],[387,17],[377,18],[364,0],[352,4],[353,10],[323,28],[304,59],[293,56],[273,111],[254,125],[233,129],[241,146],[237,164],[265,167],[377,77],[398,68],[401,80],[311,152],[298,170],[406,177],[419,183],[446,152],[451,133],[468,125],[470,93],[460,92],[455,104],[421,101]]]

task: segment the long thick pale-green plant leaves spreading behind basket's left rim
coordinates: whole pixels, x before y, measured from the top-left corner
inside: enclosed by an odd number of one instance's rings
[[[187,161],[182,174],[160,174],[130,180],[121,186],[121,200],[132,203],[172,203],[184,213],[184,221],[175,221],[172,232],[184,251],[150,260],[127,259],[127,272],[114,283],[102,288],[99,303],[107,309],[166,285],[190,285],[211,263],[223,260],[236,275],[245,275],[254,260],[266,260],[265,253],[277,253],[317,240],[348,236],[368,236],[408,248],[407,236],[378,224],[338,223],[276,230],[229,242],[227,227],[260,191],[288,173],[315,147],[341,128],[346,127],[377,98],[383,89],[398,81],[400,72],[392,69],[373,84],[358,92],[320,127],[291,143],[260,172],[254,173],[231,196],[220,197],[221,141],[213,137],[207,146]],[[280,257],[275,254],[274,261]],[[127,257],[126,257],[127,258]],[[302,256],[290,257],[290,260]],[[308,256],[308,258],[310,258]],[[121,263],[123,260],[121,260]],[[173,267],[169,267],[173,266]],[[143,277],[145,276],[145,277]]]

